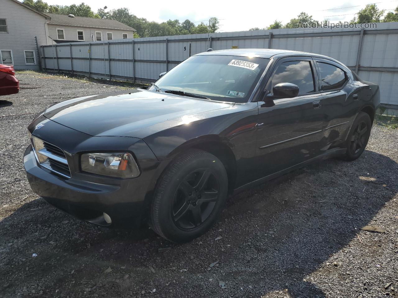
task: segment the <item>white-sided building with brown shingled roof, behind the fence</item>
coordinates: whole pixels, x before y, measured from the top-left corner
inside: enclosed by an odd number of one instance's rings
[[[41,45],[131,39],[134,31],[116,20],[44,14],[18,0],[0,0],[0,64],[39,70]]]

